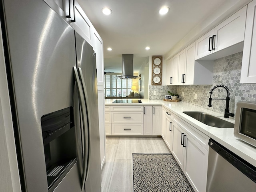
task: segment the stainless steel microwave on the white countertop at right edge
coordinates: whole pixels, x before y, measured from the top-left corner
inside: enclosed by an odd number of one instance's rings
[[[234,136],[256,147],[256,102],[237,102]]]

